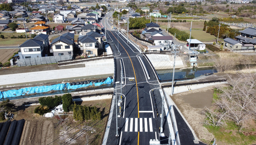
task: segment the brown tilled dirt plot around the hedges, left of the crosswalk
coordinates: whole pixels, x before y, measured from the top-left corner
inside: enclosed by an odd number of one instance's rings
[[[14,112],[16,116],[14,119],[26,120],[20,144],[48,145],[54,141],[51,145],[59,145],[74,135],[75,140],[71,140],[71,144],[82,142],[86,144],[86,142],[89,142],[90,144],[99,145],[107,123],[110,103],[111,99],[76,102],[76,104],[96,106],[101,111],[103,120],[80,122],[73,120],[72,116],[64,115],[62,117],[67,120],[59,125],[57,125],[58,120],[55,117],[46,118],[34,114],[33,111],[37,105],[18,107],[18,111]],[[72,112],[69,112],[69,114],[72,114]]]

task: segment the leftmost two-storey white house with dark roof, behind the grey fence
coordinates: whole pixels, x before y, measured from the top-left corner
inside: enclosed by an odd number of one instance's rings
[[[42,41],[29,39],[19,46],[20,59],[44,57],[44,46]]]

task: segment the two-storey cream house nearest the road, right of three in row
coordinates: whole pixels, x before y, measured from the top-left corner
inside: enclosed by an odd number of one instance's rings
[[[84,51],[86,57],[98,56],[97,40],[95,37],[85,35],[78,38],[80,49]]]

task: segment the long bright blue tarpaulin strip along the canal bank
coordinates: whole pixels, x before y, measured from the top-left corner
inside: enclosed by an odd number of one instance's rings
[[[113,82],[113,79],[107,78],[104,82],[94,83],[95,86],[101,86],[102,84],[111,84]],[[52,86],[38,86],[38,87],[29,87],[29,88],[21,88],[19,90],[9,90],[9,91],[0,91],[0,99],[2,98],[9,98],[9,97],[17,97],[17,96],[23,96],[23,95],[29,95],[34,93],[43,93],[43,92],[49,92],[49,91],[59,91],[64,90],[64,87],[67,87],[67,89],[76,90],[78,88],[84,88],[92,86],[92,82],[89,84],[79,84],[79,85],[70,85],[67,83],[67,86],[65,84],[55,84]]]

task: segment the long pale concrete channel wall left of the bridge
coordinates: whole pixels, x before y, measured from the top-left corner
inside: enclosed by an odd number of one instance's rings
[[[65,78],[75,78],[114,73],[114,59],[102,59],[97,61],[83,62],[81,64],[85,64],[85,67],[0,75],[0,87],[1,85],[8,84],[20,84],[38,81],[52,82],[51,80],[57,79],[61,80]]]

